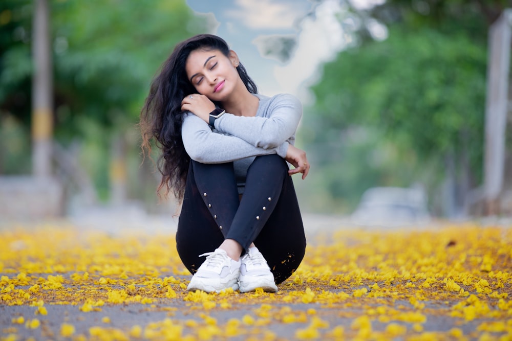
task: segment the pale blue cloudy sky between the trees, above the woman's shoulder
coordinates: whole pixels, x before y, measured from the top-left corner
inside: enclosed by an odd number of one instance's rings
[[[359,9],[382,1],[351,0]],[[187,5],[208,20],[209,33],[237,52],[261,94],[291,93],[303,102],[312,100],[307,87],[321,76],[322,63],[353,43],[350,31],[358,25],[343,0],[187,0]],[[379,29],[385,35],[378,25],[376,34]],[[293,47],[289,58],[265,54],[268,46],[279,51],[280,41]]]

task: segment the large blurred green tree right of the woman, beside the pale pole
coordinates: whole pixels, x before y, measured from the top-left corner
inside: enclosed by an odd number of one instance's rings
[[[368,187],[416,181],[436,213],[464,207],[481,183],[487,29],[505,3],[389,0],[356,12],[358,43],[324,65],[302,131],[319,173],[338,170],[319,181],[338,210]],[[386,39],[372,38],[370,19]],[[451,203],[437,199],[446,183]]]

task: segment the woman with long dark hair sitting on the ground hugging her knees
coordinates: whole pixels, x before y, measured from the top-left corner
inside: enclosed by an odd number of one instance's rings
[[[181,42],[162,65],[141,112],[142,147],[151,152],[156,140],[159,190],[173,189],[182,204],[176,242],[194,274],[188,290],[275,292],[302,261],[290,176],[309,171],[293,146],[301,116],[295,97],[257,94],[217,36]]]

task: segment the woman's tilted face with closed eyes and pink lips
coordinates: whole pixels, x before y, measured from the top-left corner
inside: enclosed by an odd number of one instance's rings
[[[226,57],[219,50],[200,49],[188,55],[185,70],[199,94],[222,102],[241,83],[236,69],[238,63],[238,56],[233,51]]]

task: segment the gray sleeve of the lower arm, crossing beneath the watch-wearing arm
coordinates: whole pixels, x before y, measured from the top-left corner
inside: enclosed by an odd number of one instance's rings
[[[284,158],[288,149],[286,141],[279,146],[264,149],[236,136],[214,132],[206,122],[192,113],[183,120],[181,137],[190,158],[204,164],[225,163],[275,153]]]

